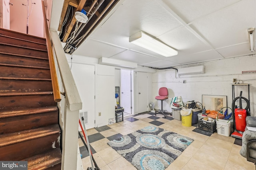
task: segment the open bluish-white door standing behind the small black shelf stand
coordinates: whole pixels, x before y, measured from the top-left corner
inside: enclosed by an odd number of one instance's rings
[[[132,114],[132,71],[121,70],[121,105],[124,112]]]

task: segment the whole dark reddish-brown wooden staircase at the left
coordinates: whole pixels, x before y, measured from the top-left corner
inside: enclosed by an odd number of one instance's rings
[[[0,29],[0,160],[61,168],[46,39]]]

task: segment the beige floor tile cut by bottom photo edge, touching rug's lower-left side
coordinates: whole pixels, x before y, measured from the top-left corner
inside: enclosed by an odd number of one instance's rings
[[[120,157],[108,164],[111,170],[137,170],[130,162],[124,157]]]

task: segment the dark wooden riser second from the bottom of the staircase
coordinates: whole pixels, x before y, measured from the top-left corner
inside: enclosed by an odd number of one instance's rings
[[[0,119],[0,135],[58,124],[58,111]]]

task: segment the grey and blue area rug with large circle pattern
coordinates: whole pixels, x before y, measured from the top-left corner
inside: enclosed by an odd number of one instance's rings
[[[194,139],[152,125],[109,141],[138,170],[164,170]]]

